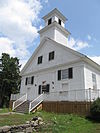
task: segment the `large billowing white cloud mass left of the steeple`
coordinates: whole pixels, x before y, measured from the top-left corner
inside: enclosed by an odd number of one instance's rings
[[[7,52],[21,62],[28,59],[28,48],[38,37],[41,9],[40,0],[0,0],[0,33],[4,35],[0,37],[0,54]]]

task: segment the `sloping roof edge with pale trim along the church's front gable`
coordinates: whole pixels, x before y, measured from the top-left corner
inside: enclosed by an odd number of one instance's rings
[[[75,51],[65,45],[62,45],[48,37],[44,37],[44,39],[41,41],[41,43],[39,44],[39,46],[36,48],[36,50],[33,52],[32,56],[30,57],[30,59],[27,61],[27,63],[25,64],[25,66],[23,67],[23,69],[21,70],[21,75],[24,73],[24,71],[27,69],[27,67],[29,66],[29,64],[33,61],[36,53],[39,51],[39,49],[42,47],[42,45],[46,42],[46,41],[50,41],[51,43],[54,43],[55,45],[59,46],[59,47],[62,47],[66,50],[68,50],[69,52],[73,53],[74,55],[78,56],[81,58],[82,61],[85,61],[86,63],[92,65],[93,67],[97,68],[99,71],[100,71],[100,65],[97,64],[96,62],[94,62],[93,60],[91,60],[89,57],[87,57],[86,55],[78,52],[78,51]]]

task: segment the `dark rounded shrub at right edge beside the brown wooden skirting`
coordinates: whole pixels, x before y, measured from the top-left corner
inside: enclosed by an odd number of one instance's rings
[[[91,112],[92,118],[100,120],[100,98],[97,98],[91,104],[90,112]]]

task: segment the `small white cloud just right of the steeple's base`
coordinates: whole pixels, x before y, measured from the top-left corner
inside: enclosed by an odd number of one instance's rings
[[[73,37],[70,37],[68,40],[68,47],[74,49],[74,50],[81,50],[83,48],[89,47],[89,44],[87,42],[84,42],[79,39],[74,39]]]

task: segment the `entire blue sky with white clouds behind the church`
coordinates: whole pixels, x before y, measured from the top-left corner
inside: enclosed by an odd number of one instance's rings
[[[68,19],[69,47],[100,64],[100,0],[1,0],[0,54],[17,56],[24,65],[40,42],[42,17],[54,8]]]

